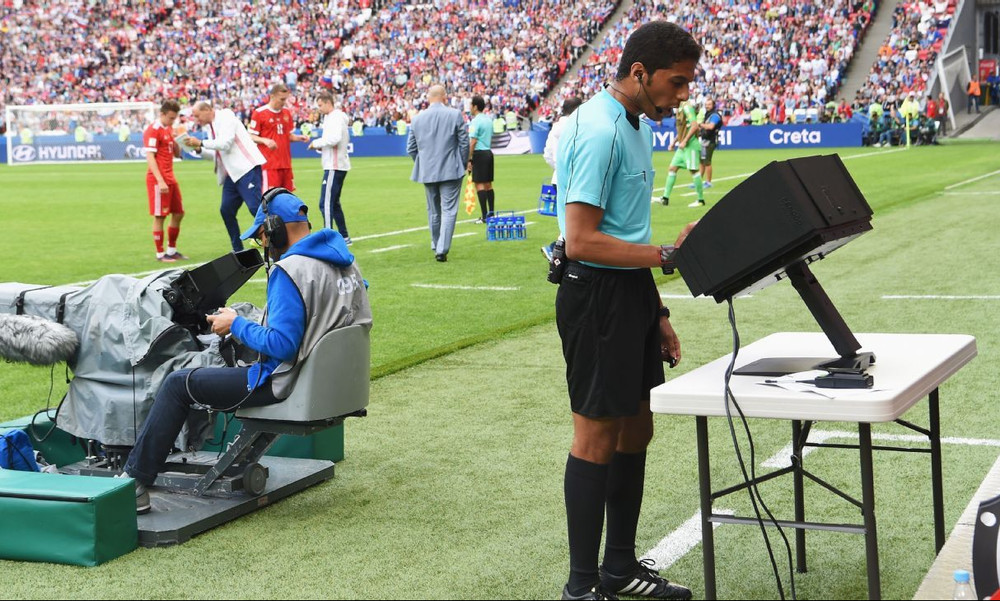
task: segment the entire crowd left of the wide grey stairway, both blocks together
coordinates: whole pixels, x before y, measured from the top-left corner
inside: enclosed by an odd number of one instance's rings
[[[6,104],[210,99],[247,118],[282,81],[296,120],[320,87],[365,125],[456,102],[528,115],[615,0],[0,0]]]

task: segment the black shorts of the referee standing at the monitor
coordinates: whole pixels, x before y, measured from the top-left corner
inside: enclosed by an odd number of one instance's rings
[[[573,413],[629,417],[664,382],[659,292],[648,269],[566,267],[556,292]]]

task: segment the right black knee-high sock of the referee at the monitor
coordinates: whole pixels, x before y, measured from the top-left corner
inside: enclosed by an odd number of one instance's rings
[[[636,566],[635,531],[646,481],[646,452],[615,453],[608,469],[608,536],[604,569],[627,576]]]

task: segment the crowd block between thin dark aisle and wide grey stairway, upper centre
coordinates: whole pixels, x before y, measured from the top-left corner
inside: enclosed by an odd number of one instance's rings
[[[344,45],[321,81],[367,126],[419,109],[437,81],[460,106],[473,95],[495,113],[527,116],[614,10],[612,0],[387,3]],[[467,108],[467,107],[464,107]]]

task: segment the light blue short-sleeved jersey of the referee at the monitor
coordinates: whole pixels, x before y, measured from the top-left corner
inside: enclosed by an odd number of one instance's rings
[[[601,232],[625,242],[649,244],[655,179],[653,130],[642,120],[638,129],[633,127],[625,107],[607,90],[570,115],[559,138],[556,174],[556,210],[563,236],[566,205],[583,202],[604,210],[598,225]]]

